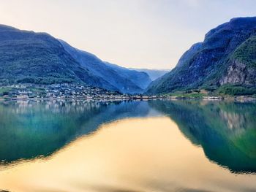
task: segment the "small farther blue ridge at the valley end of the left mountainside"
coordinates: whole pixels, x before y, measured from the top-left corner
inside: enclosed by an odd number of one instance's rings
[[[125,67],[118,66],[116,64],[110,64],[108,62],[105,62],[105,64],[117,72],[121,77],[131,80],[142,89],[146,89],[152,81],[146,72],[138,72],[136,70],[127,69]]]

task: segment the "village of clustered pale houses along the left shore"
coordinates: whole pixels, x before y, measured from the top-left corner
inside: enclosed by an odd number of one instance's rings
[[[116,91],[106,91],[102,88],[66,83],[55,85],[17,84],[8,85],[1,88],[7,90],[5,93],[1,94],[0,97],[2,99],[157,99],[157,96],[121,94]]]

